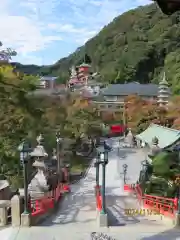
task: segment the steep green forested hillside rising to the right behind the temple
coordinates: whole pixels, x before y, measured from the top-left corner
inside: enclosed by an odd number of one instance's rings
[[[173,91],[180,90],[180,15],[164,15],[155,4],[139,7],[115,18],[100,33],[67,58],[38,69],[39,73],[68,78],[72,64],[86,52],[102,81],[157,82],[166,71]],[[22,68],[23,69],[23,68]],[[37,69],[35,72],[37,72]]]

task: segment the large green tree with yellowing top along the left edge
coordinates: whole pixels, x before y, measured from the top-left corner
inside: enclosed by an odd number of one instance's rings
[[[35,85],[36,77],[19,74],[8,64],[0,65],[0,178],[10,182],[18,183],[22,177],[17,146],[24,137],[30,138],[34,120],[41,116],[27,98]]]

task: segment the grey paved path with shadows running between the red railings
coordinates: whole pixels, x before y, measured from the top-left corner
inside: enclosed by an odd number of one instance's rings
[[[14,229],[11,240],[89,240],[93,231],[106,232],[117,240],[180,239],[177,237],[180,236],[178,230],[172,230],[171,226],[165,226],[162,221],[125,216],[124,209],[134,207],[136,200],[123,191],[122,165],[128,164],[128,181],[134,182],[138,179],[143,156],[141,150],[121,149],[119,156],[117,153],[114,143],[106,171],[109,228],[100,229],[96,223],[95,168],[92,166],[86,178],[72,186],[72,194],[66,196],[56,216],[48,218],[38,227]]]

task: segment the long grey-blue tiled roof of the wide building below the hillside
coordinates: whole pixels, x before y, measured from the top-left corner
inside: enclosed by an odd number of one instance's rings
[[[158,85],[156,84],[112,84],[103,89],[104,96],[127,96],[137,94],[139,96],[157,96]]]

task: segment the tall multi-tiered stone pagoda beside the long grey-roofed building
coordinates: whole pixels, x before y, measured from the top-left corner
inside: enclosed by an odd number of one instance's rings
[[[157,101],[159,106],[166,106],[169,102],[170,89],[168,85],[169,84],[166,81],[166,74],[164,73],[163,79],[159,83],[158,101]]]

